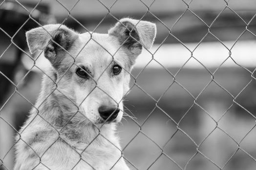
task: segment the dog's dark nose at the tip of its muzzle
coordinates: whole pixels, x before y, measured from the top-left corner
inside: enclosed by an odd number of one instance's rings
[[[116,119],[120,109],[114,106],[100,106],[99,107],[99,114],[100,116],[107,121],[112,121]]]

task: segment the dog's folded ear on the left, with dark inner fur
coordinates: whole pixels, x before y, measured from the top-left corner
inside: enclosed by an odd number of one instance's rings
[[[57,56],[68,51],[77,37],[77,33],[60,24],[44,25],[26,32],[29,51],[44,50],[44,56],[54,67],[62,60]]]

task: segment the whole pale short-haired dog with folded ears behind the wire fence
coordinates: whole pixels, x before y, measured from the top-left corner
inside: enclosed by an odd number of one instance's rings
[[[131,18],[107,34],[60,24],[26,32],[29,51],[43,51],[51,66],[16,137],[14,170],[129,170],[115,129],[130,71],[155,35],[154,23]]]

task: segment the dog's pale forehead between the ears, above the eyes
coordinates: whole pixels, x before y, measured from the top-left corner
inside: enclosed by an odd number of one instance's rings
[[[77,49],[80,49],[76,59],[78,63],[93,64],[97,62],[108,64],[113,59],[115,61],[122,60],[124,55],[124,52],[120,49],[118,39],[108,34],[80,34],[76,46]]]

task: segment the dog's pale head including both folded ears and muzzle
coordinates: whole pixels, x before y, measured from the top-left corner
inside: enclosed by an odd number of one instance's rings
[[[43,50],[56,72],[58,91],[73,100],[92,123],[119,122],[130,71],[142,48],[151,48],[155,24],[119,20],[108,34],[79,34],[52,24],[26,33],[31,53]]]

